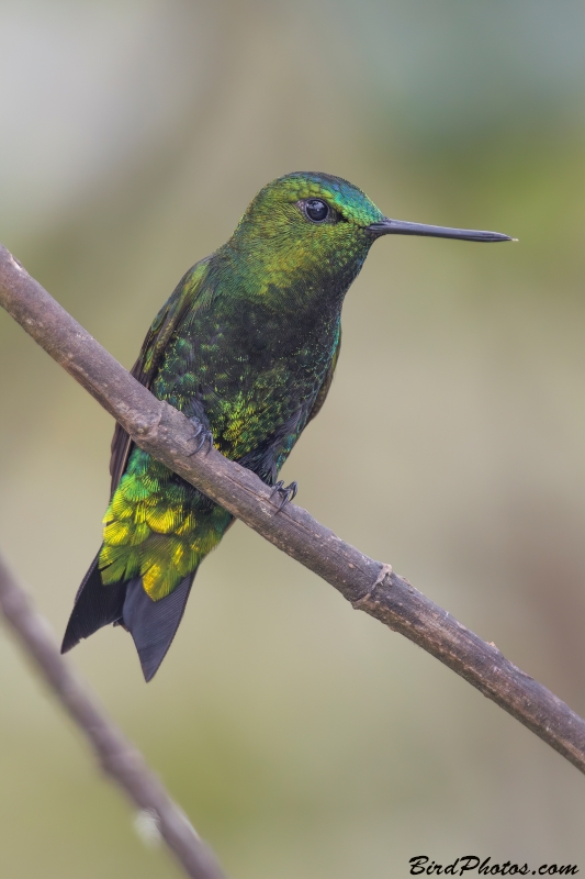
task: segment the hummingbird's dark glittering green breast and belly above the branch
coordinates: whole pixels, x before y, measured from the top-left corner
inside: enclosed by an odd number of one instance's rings
[[[291,315],[261,304],[218,310],[176,335],[153,390],[181,411],[196,400],[217,447],[239,459],[286,423],[302,430],[338,335],[335,312]]]

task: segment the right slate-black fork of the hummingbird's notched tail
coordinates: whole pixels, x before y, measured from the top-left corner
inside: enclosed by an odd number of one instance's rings
[[[195,572],[188,574],[170,594],[153,601],[140,577],[128,580],[122,623],[132,634],[138,650],[145,680],[156,675],[181,622]],[[111,587],[108,587],[109,589]]]

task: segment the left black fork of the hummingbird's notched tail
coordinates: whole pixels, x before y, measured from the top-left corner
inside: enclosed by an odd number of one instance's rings
[[[67,653],[79,644],[81,638],[88,638],[98,628],[120,622],[125,598],[126,583],[112,586],[102,583],[95,556],[77,592],[63,638],[61,653]]]

